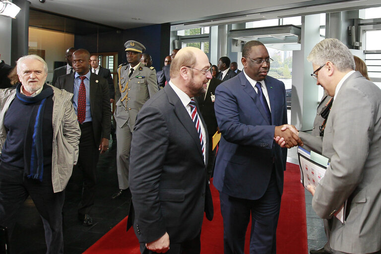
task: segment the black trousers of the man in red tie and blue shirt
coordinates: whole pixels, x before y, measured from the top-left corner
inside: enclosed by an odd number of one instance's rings
[[[99,159],[99,144],[94,141],[91,122],[80,124],[79,154],[77,166],[83,174],[82,198],[78,205],[78,214],[88,214],[94,205],[96,167]]]

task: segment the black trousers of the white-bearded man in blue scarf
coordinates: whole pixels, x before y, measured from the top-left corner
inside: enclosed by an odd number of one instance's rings
[[[25,177],[24,170],[21,168],[0,162],[0,225],[8,228],[9,238],[15,224],[17,210],[29,195],[44,224],[46,253],[64,253],[62,233],[64,191],[53,192],[52,165],[44,166],[43,180],[40,182]],[[12,246],[9,249],[12,251]]]

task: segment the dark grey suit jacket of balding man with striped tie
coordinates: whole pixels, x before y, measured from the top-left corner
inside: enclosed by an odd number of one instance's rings
[[[167,85],[144,104],[132,135],[129,184],[139,242],[152,242],[165,232],[171,243],[195,238],[201,230],[205,202],[212,204],[211,196],[205,199],[205,183],[197,130]]]

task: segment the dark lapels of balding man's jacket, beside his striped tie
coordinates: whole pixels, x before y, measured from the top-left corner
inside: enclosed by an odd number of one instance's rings
[[[196,127],[194,126],[194,123],[193,123],[191,117],[189,116],[188,111],[184,107],[179,96],[177,96],[177,94],[175,93],[175,91],[172,89],[172,87],[170,85],[166,85],[164,87],[164,91],[167,93],[169,102],[174,106],[175,114],[176,114],[177,118],[179,119],[180,123],[185,127],[185,129],[191,135],[191,137],[194,141],[194,144],[197,146],[197,148],[198,148],[197,150],[198,150],[198,152],[202,158],[202,161],[203,161],[204,158],[202,156],[200,139],[198,138],[198,133],[197,133]],[[206,126],[205,122],[203,122],[203,119],[201,117],[201,113],[199,112],[199,110],[197,110],[197,114],[198,114],[198,117],[200,118],[203,126],[205,127]],[[206,144],[204,144],[204,149],[205,150],[207,149]]]

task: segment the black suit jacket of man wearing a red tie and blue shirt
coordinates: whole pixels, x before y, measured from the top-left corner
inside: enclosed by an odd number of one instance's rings
[[[74,75],[75,72],[58,77],[55,86],[74,93]],[[112,114],[107,80],[94,73],[90,74],[90,108],[94,141],[98,145],[102,138],[110,139]]]

